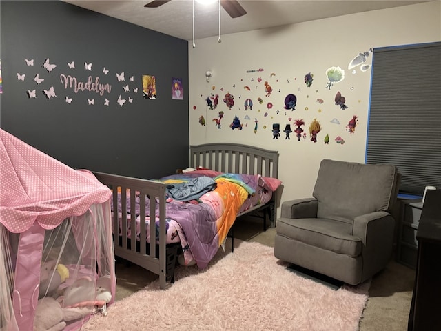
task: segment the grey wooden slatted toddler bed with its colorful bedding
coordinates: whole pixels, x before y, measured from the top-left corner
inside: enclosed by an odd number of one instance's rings
[[[161,288],[173,280],[179,250],[185,264],[194,259],[205,268],[236,217],[260,212],[264,224],[267,215],[271,224],[276,220],[278,152],[232,143],[190,146],[190,167],[196,170],[155,180],[94,173],[114,192],[116,256],[158,274]]]

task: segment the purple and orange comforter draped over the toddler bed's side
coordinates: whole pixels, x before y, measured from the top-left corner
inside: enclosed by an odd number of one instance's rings
[[[178,174],[164,177],[161,181],[189,181],[194,177],[196,174]],[[187,203],[172,199],[167,201],[166,218],[173,219],[181,226],[187,242],[183,250],[191,251],[199,268],[205,268],[218,251],[240,205],[249,195],[254,194],[258,179],[259,176],[255,175],[223,174],[216,177],[218,188],[205,194],[211,194],[211,197],[202,197],[203,202],[198,200]],[[136,197],[135,206],[135,214],[138,217],[139,197]],[[127,212],[130,212],[130,194],[127,194],[126,208]],[[121,212],[121,194],[119,194],[119,212]],[[146,217],[150,216],[148,199],[146,199],[145,214]],[[156,217],[158,217],[158,205],[156,205]]]

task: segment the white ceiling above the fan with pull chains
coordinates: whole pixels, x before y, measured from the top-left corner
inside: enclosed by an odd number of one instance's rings
[[[172,0],[158,8],[145,8],[151,0],[85,1],[65,0],[76,6],[101,12],[150,30],[163,32],[180,39],[193,39],[193,1]],[[439,0],[438,0],[439,1]],[[247,14],[232,19],[220,10],[220,34],[258,30],[285,24],[337,17],[356,12],[367,12],[426,1],[412,0],[240,0]],[[195,3],[194,39],[214,37],[219,34],[219,6]],[[372,22],[375,24],[375,22]]]

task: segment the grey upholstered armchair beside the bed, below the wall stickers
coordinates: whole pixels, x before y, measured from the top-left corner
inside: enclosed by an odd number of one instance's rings
[[[282,203],[274,255],[358,285],[391,259],[398,193],[393,165],[322,160],[313,196]]]

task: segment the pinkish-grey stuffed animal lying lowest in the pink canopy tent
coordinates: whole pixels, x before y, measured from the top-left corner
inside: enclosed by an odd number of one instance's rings
[[[52,297],[37,302],[34,317],[34,331],[61,331],[69,321],[82,319],[90,314],[90,308],[61,308]]]

